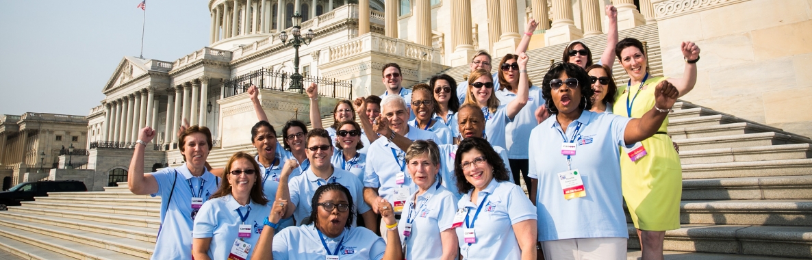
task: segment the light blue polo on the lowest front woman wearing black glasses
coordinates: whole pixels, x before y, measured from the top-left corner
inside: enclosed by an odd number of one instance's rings
[[[285,228],[274,236],[274,260],[289,259],[325,259],[327,249],[313,225]],[[387,249],[383,239],[369,229],[353,227],[335,238],[322,235],[330,254],[334,253],[339,243],[339,259],[342,260],[380,260]]]

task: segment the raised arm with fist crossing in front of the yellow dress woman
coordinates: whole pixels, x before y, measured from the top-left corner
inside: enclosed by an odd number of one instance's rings
[[[674,85],[667,80],[661,81],[657,85],[657,89],[654,89],[654,107],[641,118],[628,121],[624,132],[625,143],[627,145],[634,144],[654,136],[660,126],[663,125],[663,120],[665,120],[671,107],[674,106],[679,95],[680,92],[676,90]],[[663,111],[658,111],[658,109]]]

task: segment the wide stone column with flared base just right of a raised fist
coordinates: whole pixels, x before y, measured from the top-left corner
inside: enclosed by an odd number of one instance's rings
[[[555,45],[584,37],[584,32],[575,27],[572,20],[572,2],[570,0],[553,1],[553,26],[544,33],[546,45]]]

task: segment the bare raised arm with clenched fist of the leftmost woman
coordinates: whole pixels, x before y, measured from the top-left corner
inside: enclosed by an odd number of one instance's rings
[[[138,140],[149,144],[155,137],[155,130],[150,127],[141,128],[138,132]],[[127,171],[127,188],[136,195],[147,195],[158,193],[158,180],[151,174],[144,174],[144,153],[146,145],[136,144],[136,149],[132,152],[130,168]]]

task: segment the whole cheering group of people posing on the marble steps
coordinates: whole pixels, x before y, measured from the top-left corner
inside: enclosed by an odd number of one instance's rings
[[[405,89],[389,63],[386,92],[339,101],[326,128],[310,85],[313,128],[288,121],[283,144],[252,86],[256,154],[224,168],[205,163],[209,129],[184,126],[184,165],[144,174],[155,131],[141,129],[127,183],[162,199],[153,259],[625,259],[624,200],[643,258],[662,259],[664,232],[680,227],[667,115],[693,89],[699,49],[682,43],[682,78],[650,76],[644,46],[618,41],[606,13],[599,63],[573,41],[540,86],[527,74],[532,19],[497,73],[479,51],[466,81]]]

